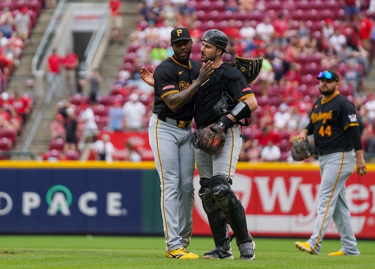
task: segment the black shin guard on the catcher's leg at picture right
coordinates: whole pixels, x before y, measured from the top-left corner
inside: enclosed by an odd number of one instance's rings
[[[228,179],[222,175],[216,175],[210,179],[211,194],[220,209],[223,210],[229,225],[237,237],[237,245],[243,242],[252,242],[246,224],[245,210],[231,189]]]

